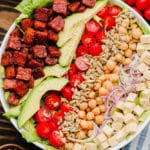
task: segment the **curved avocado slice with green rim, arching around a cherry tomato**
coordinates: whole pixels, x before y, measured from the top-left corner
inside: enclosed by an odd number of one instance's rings
[[[37,85],[31,91],[22,107],[17,120],[18,127],[21,128],[37,112],[40,108],[41,98],[47,91],[60,91],[67,83],[68,80],[66,78],[48,77]]]

